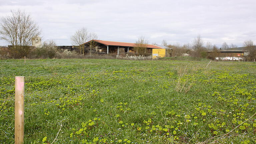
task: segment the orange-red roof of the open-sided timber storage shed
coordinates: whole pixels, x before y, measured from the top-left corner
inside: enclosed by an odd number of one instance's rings
[[[112,46],[126,46],[126,47],[134,47],[135,43],[128,43],[128,42],[116,42],[116,41],[104,41],[104,40],[91,40],[95,41],[101,44],[104,44],[106,46],[112,45]],[[90,41],[88,41],[90,42]],[[84,43],[83,45],[87,44],[88,42]],[[163,49],[163,47],[157,46],[157,45],[152,45],[152,44],[147,44],[147,48],[159,48]]]

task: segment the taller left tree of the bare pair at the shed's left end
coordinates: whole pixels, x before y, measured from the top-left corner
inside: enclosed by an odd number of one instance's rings
[[[76,45],[80,49],[80,55],[82,54],[83,50],[83,55],[84,55],[84,46],[83,44],[88,41],[88,35],[89,32],[86,28],[82,27],[78,29],[74,35],[70,37],[70,41],[72,45]]]

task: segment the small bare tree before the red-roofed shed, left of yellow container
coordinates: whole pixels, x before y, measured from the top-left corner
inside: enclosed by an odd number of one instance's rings
[[[144,36],[141,36],[134,45],[134,50],[136,51],[136,54],[138,55],[146,54],[147,44],[148,44],[148,41],[145,40]]]

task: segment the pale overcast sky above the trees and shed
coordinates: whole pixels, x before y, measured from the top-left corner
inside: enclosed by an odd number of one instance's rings
[[[25,10],[42,30],[42,39],[71,45],[85,27],[100,40],[149,43],[205,42],[242,46],[256,42],[256,0],[0,0],[0,17]],[[8,45],[0,40],[0,45]]]

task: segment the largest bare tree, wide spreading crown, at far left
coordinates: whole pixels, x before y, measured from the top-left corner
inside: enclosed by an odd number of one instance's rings
[[[0,24],[0,39],[11,44],[14,58],[30,54],[33,39],[41,34],[36,22],[21,10],[11,10],[11,15],[3,17]]]

